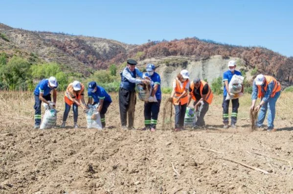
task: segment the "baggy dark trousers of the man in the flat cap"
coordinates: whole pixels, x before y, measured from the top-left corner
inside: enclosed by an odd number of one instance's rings
[[[119,88],[119,109],[122,126],[127,125],[128,115],[128,127],[133,127],[135,117],[135,104],[135,91],[129,91],[125,90],[124,88]]]

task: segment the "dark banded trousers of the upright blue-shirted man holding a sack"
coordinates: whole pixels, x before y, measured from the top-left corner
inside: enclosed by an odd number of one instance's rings
[[[236,124],[237,122],[237,114],[239,108],[239,98],[232,99],[232,114],[231,114],[231,124]],[[229,123],[229,104],[230,100],[226,100],[226,97],[223,98],[223,122],[224,124]]]

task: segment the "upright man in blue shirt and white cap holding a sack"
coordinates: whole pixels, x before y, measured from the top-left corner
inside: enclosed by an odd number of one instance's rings
[[[236,62],[234,60],[230,60],[228,62],[228,68],[229,70],[224,72],[223,74],[223,82],[225,83],[224,86],[224,97],[223,97],[223,123],[224,123],[224,129],[228,128],[229,124],[229,103],[230,100],[226,100],[227,95],[231,95],[229,91],[229,82],[231,81],[232,77],[234,75],[242,76],[241,72],[236,71]],[[242,93],[244,91],[244,88],[242,86]],[[232,101],[232,114],[231,114],[231,127],[236,128],[236,122],[237,122],[237,115],[238,115],[238,108],[239,108],[239,99],[231,99]]]

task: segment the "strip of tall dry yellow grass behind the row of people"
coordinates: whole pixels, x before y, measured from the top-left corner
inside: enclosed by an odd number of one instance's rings
[[[63,92],[58,93],[57,97],[57,111],[59,111],[58,120],[61,119],[64,111],[64,98]],[[292,92],[283,92],[276,104],[276,116],[275,121],[281,122],[283,126],[293,125],[293,98]],[[118,98],[118,94],[112,93],[112,99]],[[173,122],[171,115],[169,113],[173,112],[172,102],[168,102],[169,95],[163,95],[162,98],[162,111],[159,114],[159,120],[165,121],[163,124],[171,125]],[[87,96],[86,96],[87,101]],[[215,95],[214,100],[209,108],[208,115],[213,115],[219,118],[219,124],[222,124],[222,95]],[[0,127],[10,126],[20,126],[27,125],[31,126],[34,120],[34,95],[32,92],[0,92]],[[115,100],[114,102],[115,103]],[[239,100],[240,107],[238,111],[238,119],[250,120],[250,106],[251,106],[251,96],[246,94]],[[257,101],[259,103],[259,100]],[[257,104],[256,103],[256,104]],[[231,105],[230,105],[231,107]],[[164,112],[165,109],[165,112]],[[231,108],[229,109],[231,113]],[[42,111],[44,111],[42,109]],[[119,110],[115,110],[119,112]],[[137,112],[137,111],[136,111]],[[43,112],[42,112],[43,114]],[[71,114],[71,113],[70,113]],[[207,115],[207,116],[208,116]],[[168,118],[167,118],[168,117]],[[170,118],[169,118],[170,117]],[[207,123],[208,124],[208,123]],[[166,126],[163,127],[163,129]]]

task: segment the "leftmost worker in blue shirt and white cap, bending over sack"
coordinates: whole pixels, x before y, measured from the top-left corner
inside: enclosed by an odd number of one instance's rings
[[[35,126],[34,129],[39,129],[41,124],[41,104],[42,102],[55,106],[57,100],[57,89],[58,83],[55,77],[50,77],[48,79],[43,79],[39,82],[37,87],[35,88]],[[51,91],[53,90],[53,102],[51,104],[48,101],[51,101]]]

